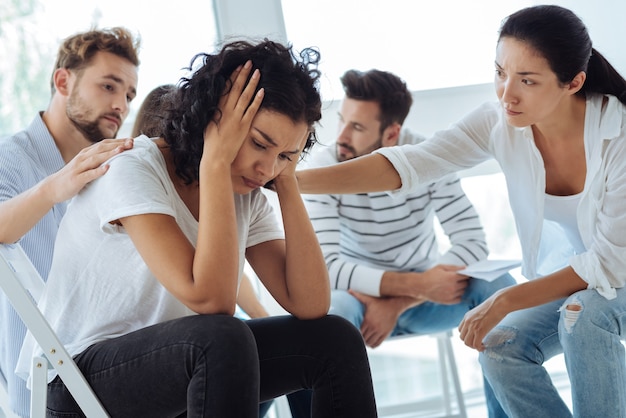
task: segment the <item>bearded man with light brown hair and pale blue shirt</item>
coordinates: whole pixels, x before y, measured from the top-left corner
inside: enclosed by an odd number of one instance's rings
[[[45,280],[66,201],[132,147],[113,140],[137,90],[139,40],[124,28],[72,35],[59,48],[48,108],[0,140],[0,242],[19,242]],[[30,391],[14,373],[26,327],[0,291],[0,383],[29,416]]]

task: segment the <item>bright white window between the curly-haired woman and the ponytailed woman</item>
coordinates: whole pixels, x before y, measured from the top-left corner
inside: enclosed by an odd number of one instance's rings
[[[489,83],[500,20],[532,3],[282,0],[289,41],[320,49],[324,100],[343,95],[352,68],[392,71],[413,91]]]

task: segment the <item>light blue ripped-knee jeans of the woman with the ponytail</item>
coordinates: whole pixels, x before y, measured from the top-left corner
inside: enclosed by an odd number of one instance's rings
[[[607,300],[582,290],[535,308],[510,313],[485,338],[483,374],[509,417],[626,417],[626,289]],[[543,367],[564,353],[573,414]],[[496,400],[497,398],[497,400]],[[498,415],[500,416],[500,415]]]

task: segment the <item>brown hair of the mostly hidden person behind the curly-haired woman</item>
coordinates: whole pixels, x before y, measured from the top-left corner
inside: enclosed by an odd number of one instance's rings
[[[150,138],[163,136],[164,112],[168,96],[174,91],[174,84],[163,84],[153,88],[143,99],[131,136],[146,135]]]

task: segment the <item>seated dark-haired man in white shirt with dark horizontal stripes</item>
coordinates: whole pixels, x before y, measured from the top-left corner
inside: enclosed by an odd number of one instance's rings
[[[309,156],[306,167],[424,139],[402,128],[412,96],[399,77],[350,70],[341,82],[346,97],[336,144]],[[455,328],[467,311],[515,283],[509,274],[488,282],[457,273],[487,258],[488,249],[456,175],[404,196],[305,195],[305,202],[334,289],[330,313],[360,328],[370,347],[390,335]],[[443,255],[435,216],[451,244]]]

